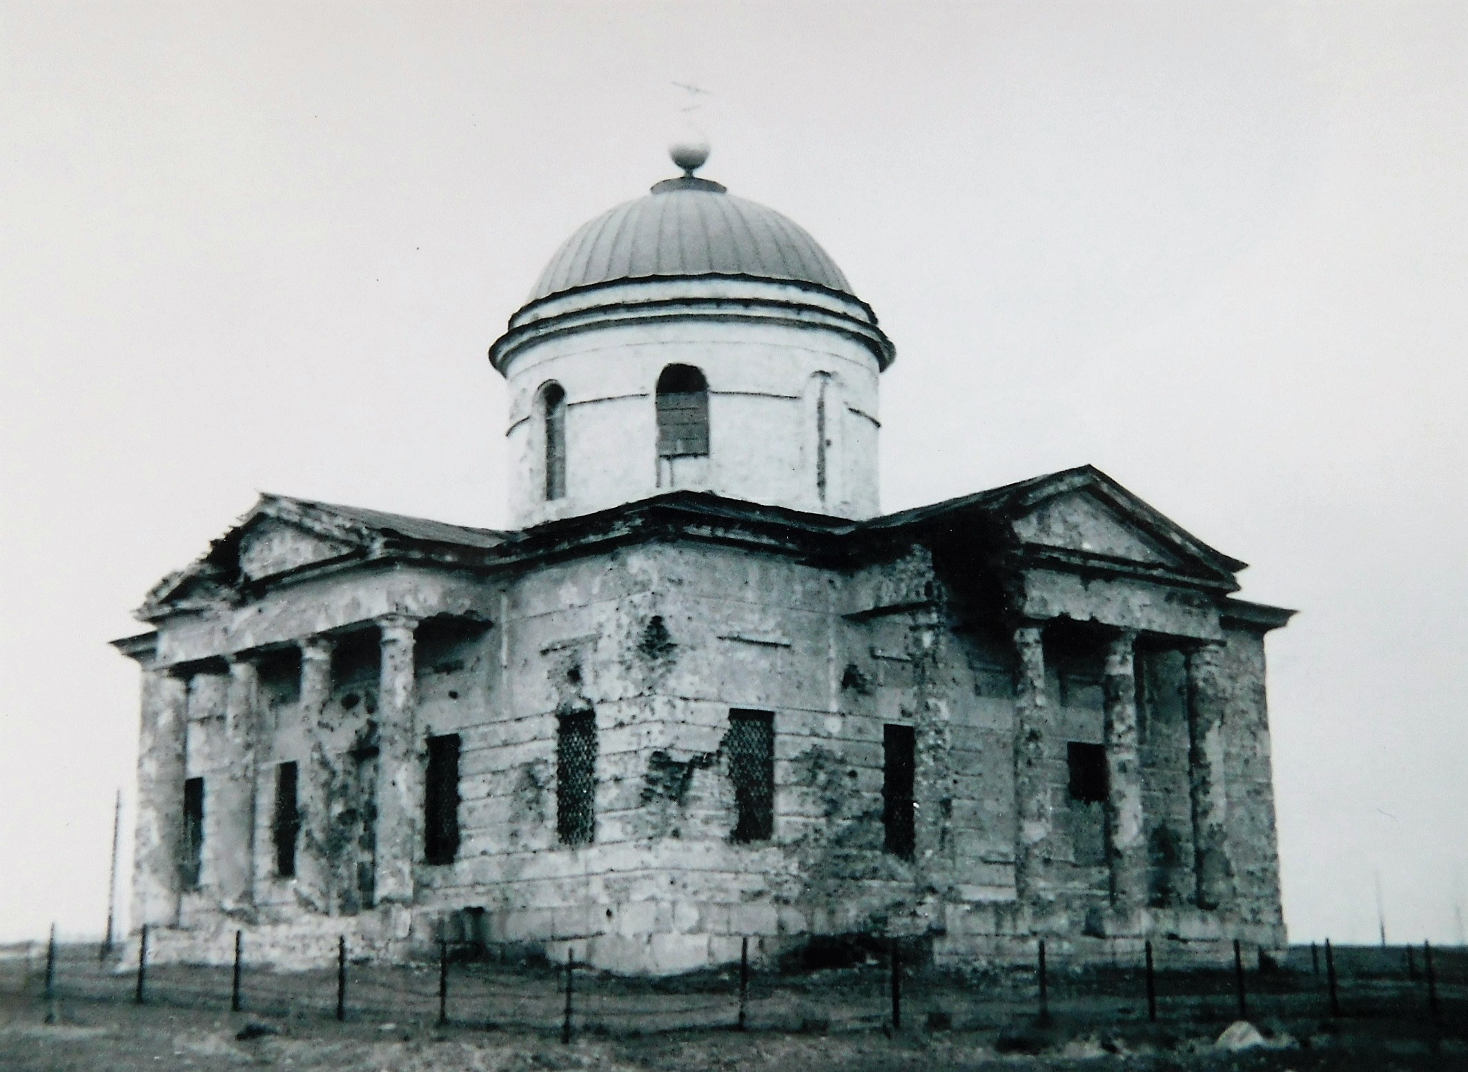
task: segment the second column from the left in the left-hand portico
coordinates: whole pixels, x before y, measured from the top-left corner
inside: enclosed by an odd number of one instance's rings
[[[220,903],[252,903],[251,873],[255,842],[255,739],[260,678],[254,663],[229,657],[225,692],[225,761],[217,786],[208,793],[214,815],[207,815],[214,846],[213,881]]]

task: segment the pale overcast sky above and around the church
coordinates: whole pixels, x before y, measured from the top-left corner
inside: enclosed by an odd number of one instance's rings
[[[484,350],[675,81],[897,345],[884,509],[1091,462],[1251,562],[1292,937],[1462,940],[1459,0],[0,3],[0,940],[100,931],[107,641],[257,490],[506,522]]]

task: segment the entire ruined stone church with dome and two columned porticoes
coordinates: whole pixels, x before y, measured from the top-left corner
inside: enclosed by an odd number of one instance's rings
[[[881,513],[893,343],[703,155],[490,348],[514,528],[267,494],[147,595],[151,956],[1282,950],[1292,612],[1089,466]]]

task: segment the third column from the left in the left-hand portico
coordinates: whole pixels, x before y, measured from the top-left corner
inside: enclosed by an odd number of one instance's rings
[[[336,875],[330,853],[332,758],[327,752],[326,704],[332,698],[332,651],[327,636],[301,641],[301,729],[308,751],[297,771],[301,829],[295,849],[297,895],[320,912],[336,909]],[[273,870],[273,868],[272,868]]]

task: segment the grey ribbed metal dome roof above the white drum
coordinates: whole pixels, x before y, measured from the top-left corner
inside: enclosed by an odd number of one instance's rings
[[[593,283],[656,276],[753,276],[851,293],[846,276],[799,224],[725,194],[716,182],[668,179],[577,230],[550,258],[528,301]]]

